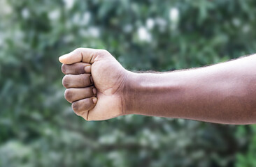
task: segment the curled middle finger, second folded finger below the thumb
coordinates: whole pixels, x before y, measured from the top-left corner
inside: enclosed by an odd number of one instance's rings
[[[91,74],[67,74],[62,79],[62,85],[65,88],[85,88],[92,85]]]

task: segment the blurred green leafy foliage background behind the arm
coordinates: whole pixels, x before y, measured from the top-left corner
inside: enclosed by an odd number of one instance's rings
[[[87,122],[58,57],[107,49],[169,71],[256,52],[254,0],[0,1],[0,166],[256,166],[256,126],[122,116]]]

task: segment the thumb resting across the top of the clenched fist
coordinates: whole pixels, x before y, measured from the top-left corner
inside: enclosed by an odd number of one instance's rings
[[[71,51],[69,54],[64,54],[59,57],[59,61],[63,64],[73,64],[78,62],[93,63],[99,49],[78,48]]]

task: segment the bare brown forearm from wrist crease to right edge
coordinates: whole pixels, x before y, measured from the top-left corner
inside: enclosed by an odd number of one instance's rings
[[[160,74],[129,74],[126,113],[256,123],[256,56]]]

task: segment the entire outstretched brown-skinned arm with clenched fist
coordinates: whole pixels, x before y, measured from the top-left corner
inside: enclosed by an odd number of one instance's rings
[[[256,123],[256,55],[208,67],[129,72],[106,50],[61,56],[66,100],[85,120],[127,114],[223,124]]]

